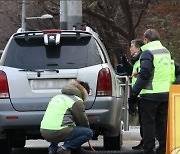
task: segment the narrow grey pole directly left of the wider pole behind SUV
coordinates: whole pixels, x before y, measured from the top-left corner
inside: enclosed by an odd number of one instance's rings
[[[60,29],[67,30],[67,0],[60,0]]]

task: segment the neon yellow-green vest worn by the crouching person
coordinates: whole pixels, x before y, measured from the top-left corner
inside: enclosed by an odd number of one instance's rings
[[[74,98],[74,99],[73,99]],[[76,100],[75,100],[76,98]],[[69,125],[75,125],[69,111],[77,100],[77,96],[69,97],[64,94],[57,95],[51,99],[41,121],[42,129],[60,130]],[[63,125],[66,123],[66,125]]]

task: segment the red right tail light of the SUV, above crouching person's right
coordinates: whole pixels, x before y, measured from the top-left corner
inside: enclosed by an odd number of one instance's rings
[[[103,68],[98,74],[97,96],[112,96],[111,73],[108,68]]]

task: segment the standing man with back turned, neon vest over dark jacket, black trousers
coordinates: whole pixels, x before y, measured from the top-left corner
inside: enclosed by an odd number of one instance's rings
[[[165,154],[166,149],[171,55],[159,40],[159,33],[155,29],[145,31],[145,45],[141,47],[139,59],[140,69],[130,96],[131,99],[140,97],[144,154]],[[156,151],[155,135],[159,141]]]

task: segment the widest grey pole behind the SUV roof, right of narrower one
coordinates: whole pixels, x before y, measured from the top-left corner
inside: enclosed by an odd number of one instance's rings
[[[69,30],[75,25],[77,29],[82,24],[82,0],[68,1],[68,26]]]

